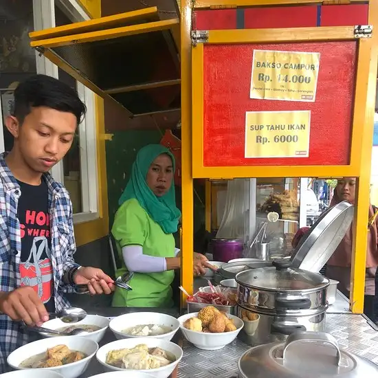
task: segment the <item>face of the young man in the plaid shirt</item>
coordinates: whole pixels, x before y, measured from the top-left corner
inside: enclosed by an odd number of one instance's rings
[[[14,136],[14,147],[25,164],[35,172],[45,173],[68,152],[77,122],[72,113],[36,107],[22,125],[10,116],[6,126]]]

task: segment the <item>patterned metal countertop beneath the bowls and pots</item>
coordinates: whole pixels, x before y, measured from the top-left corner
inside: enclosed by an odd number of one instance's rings
[[[341,348],[356,353],[378,364],[378,331],[377,326],[364,315],[355,315],[348,309],[348,300],[340,293],[338,300],[330,307],[326,315],[326,332],[336,337]],[[333,308],[333,309],[332,309]],[[344,313],[333,313],[342,309]],[[135,311],[159,311],[178,316],[178,309],[133,309],[133,308],[92,308],[88,313],[114,317],[122,313]],[[177,333],[177,338],[180,334]],[[110,330],[100,342],[100,346],[115,340]],[[251,346],[236,339],[232,344],[219,351],[202,351],[184,340],[184,357],[179,364],[177,378],[232,378],[237,375],[239,357]],[[89,368],[80,378],[103,373],[102,366],[94,357]]]

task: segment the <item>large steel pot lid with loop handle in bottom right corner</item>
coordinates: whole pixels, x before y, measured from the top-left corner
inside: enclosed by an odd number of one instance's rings
[[[299,331],[285,343],[249,349],[238,361],[243,378],[357,378],[375,377],[378,366],[340,350],[329,333]]]

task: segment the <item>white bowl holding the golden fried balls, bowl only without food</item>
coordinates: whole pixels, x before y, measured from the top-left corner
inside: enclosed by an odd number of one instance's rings
[[[188,313],[186,315],[180,316],[178,319],[180,322],[180,329],[188,342],[191,342],[194,346],[199,349],[205,349],[205,351],[215,351],[216,349],[221,349],[230,342],[236,339],[238,333],[243,329],[244,322],[240,318],[227,313],[227,317],[232,319],[236,326],[236,331],[223,332],[223,333],[206,333],[190,331],[184,327],[184,322],[190,318],[197,317],[198,313]]]

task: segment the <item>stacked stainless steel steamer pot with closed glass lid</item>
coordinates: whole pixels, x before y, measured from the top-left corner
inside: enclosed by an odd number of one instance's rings
[[[250,311],[259,318],[256,329],[246,322],[241,338],[258,345],[285,340],[295,331],[324,331],[329,280],[292,269],[288,262],[273,265],[236,275],[238,316],[243,318],[242,311]]]

